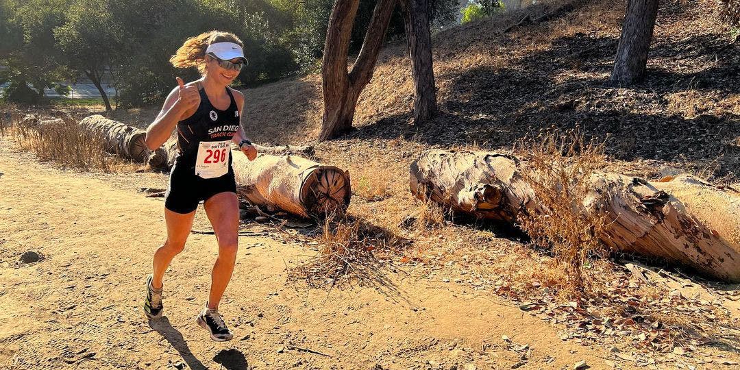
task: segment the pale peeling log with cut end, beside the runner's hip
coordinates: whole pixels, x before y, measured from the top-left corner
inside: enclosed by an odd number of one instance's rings
[[[349,206],[349,172],[295,155],[259,154],[249,161],[232,150],[239,195],[268,209],[283,209],[300,217],[343,213]]]

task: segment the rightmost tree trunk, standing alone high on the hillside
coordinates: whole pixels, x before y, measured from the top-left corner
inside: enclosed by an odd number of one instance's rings
[[[622,36],[616,49],[611,84],[628,86],[645,75],[659,0],[628,0]]]

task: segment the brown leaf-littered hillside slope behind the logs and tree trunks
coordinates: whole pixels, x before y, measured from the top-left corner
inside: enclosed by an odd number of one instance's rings
[[[323,147],[405,138],[423,146],[511,148],[539,129],[579,125],[587,135],[606,139],[608,154],[617,160],[690,168],[714,163],[716,175],[738,173],[740,45],[717,23],[714,1],[662,1],[647,78],[629,89],[604,86],[622,1],[555,2],[437,33],[441,112],[421,127],[408,124],[413,87],[404,45],[386,47],[360,97],[357,130]],[[528,14],[538,19],[548,13],[536,24],[525,21],[502,33]],[[245,124],[259,141],[315,138],[322,108],[318,75],[246,95]]]

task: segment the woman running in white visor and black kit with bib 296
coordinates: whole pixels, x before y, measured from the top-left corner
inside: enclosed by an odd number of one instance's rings
[[[187,39],[169,61],[175,67],[197,67],[202,77],[189,84],[177,78],[178,87],[169,92],[164,107],[147,128],[146,139],[147,147],[153,150],[161,147],[172,129],[178,131],[178,156],[169,173],[164,202],[167,239],[154,254],[144,312],[150,319],[162,316],[164,272],[184,249],[195,209],[203,201],[218,240],[218,258],[208,300],[196,321],[217,341],[233,337],[218,313],[238,249],[239,208],[230,143],[238,144],[249,161],[257,157],[239,124],[244,96],[229,88],[246,62],[242,47],[232,33],[212,31]]]

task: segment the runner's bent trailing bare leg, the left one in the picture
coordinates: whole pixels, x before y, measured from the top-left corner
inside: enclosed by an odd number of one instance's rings
[[[154,254],[154,278],[152,287],[160,289],[162,287],[162,277],[167,271],[172,258],[182,252],[185,248],[185,241],[192,228],[192,220],[195,218],[195,211],[182,214],[164,209],[164,221],[167,224],[167,240],[157,249]]]

